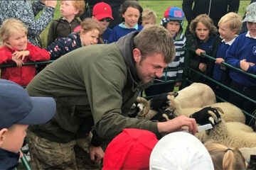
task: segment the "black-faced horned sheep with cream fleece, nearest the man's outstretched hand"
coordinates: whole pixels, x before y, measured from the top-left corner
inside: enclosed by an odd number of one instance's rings
[[[217,113],[216,113],[217,112]],[[256,147],[256,133],[245,132],[239,125],[235,129],[228,128],[228,123],[221,119],[218,110],[198,111],[193,113],[191,118],[195,118],[200,125],[211,123],[213,128],[196,134],[201,142],[213,141],[220,142],[233,147]]]

